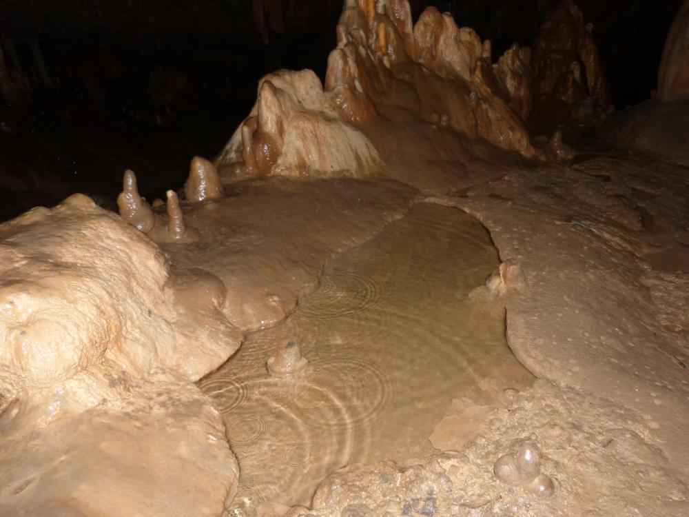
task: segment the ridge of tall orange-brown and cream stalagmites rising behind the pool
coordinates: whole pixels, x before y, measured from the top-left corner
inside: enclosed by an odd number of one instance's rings
[[[435,8],[413,25],[407,0],[347,0],[337,37],[325,87],[308,70],[260,81],[254,108],[216,159],[221,176],[375,173],[381,150],[371,133],[402,114],[543,156],[523,120],[531,102],[528,48],[515,45],[493,65],[489,40]]]

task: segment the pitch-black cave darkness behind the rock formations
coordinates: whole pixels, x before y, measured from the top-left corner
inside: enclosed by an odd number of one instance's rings
[[[556,3],[411,1],[414,19],[436,6],[491,39],[494,59],[514,41],[531,45]],[[656,87],[680,3],[578,2],[617,108]],[[341,9],[341,0],[3,0],[5,61],[24,88],[0,108],[0,220],[71,192],[112,208],[125,168],[149,198],[179,187],[192,156],[212,159],[246,116],[260,77],[278,68],[323,77]]]

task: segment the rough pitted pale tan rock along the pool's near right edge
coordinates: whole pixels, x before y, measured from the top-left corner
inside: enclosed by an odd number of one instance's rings
[[[655,456],[655,445],[626,430],[642,420],[610,401],[537,381],[491,420],[489,432],[462,452],[444,452],[404,465],[350,465],[318,487],[313,509],[295,508],[288,515],[336,517],[347,507],[360,507],[372,515],[414,510],[438,515],[564,517],[617,515],[628,506],[641,515],[683,514],[688,508],[686,483]],[[531,436],[528,429],[538,429],[537,440],[548,457],[542,459],[542,472],[524,483],[514,454],[494,462],[499,456],[495,453],[506,443],[524,443],[524,437]],[[599,441],[601,436],[606,438]],[[495,482],[494,465],[496,473],[507,475],[511,483]],[[644,495],[649,489],[664,496],[649,498]]]

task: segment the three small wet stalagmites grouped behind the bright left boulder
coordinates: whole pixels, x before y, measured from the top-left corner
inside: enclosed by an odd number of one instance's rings
[[[200,203],[225,196],[215,166],[200,156],[192,159],[184,192],[189,203]],[[198,241],[198,230],[184,223],[184,214],[177,193],[168,190],[166,194],[167,222],[141,197],[134,172],[127,170],[124,174],[123,190],[117,198],[120,216],[156,242]],[[154,207],[162,207],[163,204],[160,200],[153,203]]]

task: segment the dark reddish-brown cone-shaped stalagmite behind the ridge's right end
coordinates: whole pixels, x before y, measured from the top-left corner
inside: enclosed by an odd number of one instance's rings
[[[531,50],[532,106],[537,131],[560,123],[601,121],[610,108],[610,87],[593,41],[593,26],[571,0],[548,15]]]

